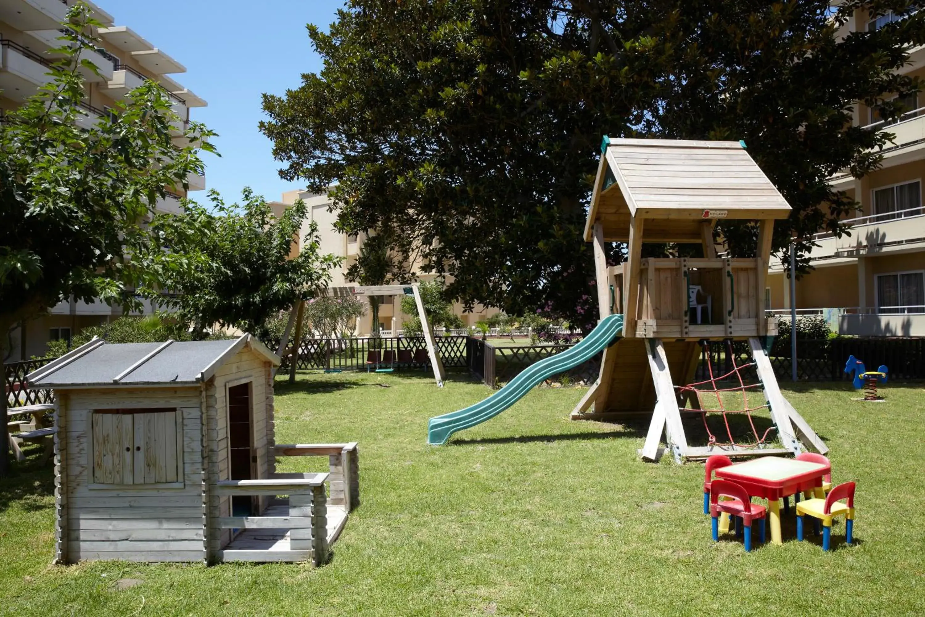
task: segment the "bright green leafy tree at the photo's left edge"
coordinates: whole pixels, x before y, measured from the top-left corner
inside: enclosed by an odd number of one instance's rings
[[[114,114],[82,129],[80,68],[101,24],[86,5],[68,11],[69,30],[55,49],[50,81],[0,124],[0,333],[73,296],[137,304],[129,291],[147,273],[130,255],[149,236],[143,228],[158,198],[202,173],[202,149],[213,135],[192,123],[188,145],[171,136],[166,92],[146,82]],[[75,32],[81,32],[78,36]],[[0,357],[3,353],[0,352]],[[6,409],[6,397],[0,411]],[[6,473],[6,423],[0,475]]]

